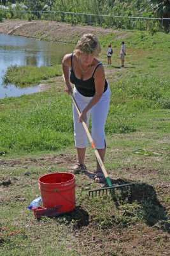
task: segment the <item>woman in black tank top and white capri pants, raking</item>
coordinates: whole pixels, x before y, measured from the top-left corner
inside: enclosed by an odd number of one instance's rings
[[[86,122],[88,126],[90,115],[92,116],[92,138],[102,161],[106,153],[104,126],[110,106],[110,88],[105,79],[103,65],[96,58],[100,52],[99,39],[92,34],[85,34],[76,44],[74,52],[66,54],[62,60],[66,92],[74,93],[81,111],[81,115],[78,116],[73,104],[74,140],[78,154],[78,163],[70,170],[74,173],[87,170],[85,151],[88,138],[81,121]],[[73,89],[71,83],[74,84]],[[98,161],[94,180],[104,181]]]

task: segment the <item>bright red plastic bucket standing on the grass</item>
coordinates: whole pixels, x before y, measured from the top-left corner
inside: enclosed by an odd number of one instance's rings
[[[76,207],[75,175],[50,173],[39,178],[43,207],[59,207],[59,212],[70,212]]]

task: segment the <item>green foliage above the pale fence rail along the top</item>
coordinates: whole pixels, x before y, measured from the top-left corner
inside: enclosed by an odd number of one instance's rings
[[[16,10],[54,12],[93,13],[96,15],[113,15],[124,17],[159,17],[170,18],[169,0],[0,0],[4,6],[17,4]],[[164,20],[162,26],[169,31],[169,20]]]

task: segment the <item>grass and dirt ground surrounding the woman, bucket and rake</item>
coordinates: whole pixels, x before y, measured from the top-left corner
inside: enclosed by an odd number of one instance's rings
[[[106,45],[114,45],[113,65],[104,67],[112,92],[105,166],[113,184],[134,188],[89,198],[87,189],[103,185],[92,180],[96,164],[88,148],[88,173],[76,175],[76,209],[37,221],[27,205],[39,195],[38,178],[76,162],[71,98],[55,84],[0,100],[1,255],[168,255],[169,35],[131,32],[124,69],[121,40],[101,38],[103,63]]]

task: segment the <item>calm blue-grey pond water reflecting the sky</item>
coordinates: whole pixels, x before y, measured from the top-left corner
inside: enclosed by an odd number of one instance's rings
[[[64,54],[72,52],[74,45],[45,42],[22,36],[0,34],[0,99],[39,92],[39,86],[3,84],[3,77],[11,65],[47,66],[60,64]]]

